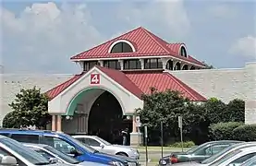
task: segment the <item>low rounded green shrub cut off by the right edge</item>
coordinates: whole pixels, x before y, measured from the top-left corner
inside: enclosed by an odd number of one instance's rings
[[[241,141],[256,141],[256,125],[240,125],[233,130],[233,135]]]

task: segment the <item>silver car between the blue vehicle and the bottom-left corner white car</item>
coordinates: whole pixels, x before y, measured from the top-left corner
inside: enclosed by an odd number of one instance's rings
[[[55,148],[43,145],[43,144],[23,144],[25,147],[31,148],[37,153],[41,154],[47,160],[56,160],[60,163],[66,163],[69,166],[106,166],[105,164],[100,164],[97,162],[89,161],[79,161],[72,157],[67,156],[67,154],[62,153],[61,151],[56,150]]]

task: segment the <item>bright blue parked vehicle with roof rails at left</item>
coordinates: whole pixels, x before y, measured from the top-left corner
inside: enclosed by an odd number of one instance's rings
[[[22,143],[46,144],[76,158],[79,161],[98,162],[113,166],[128,165],[129,159],[115,155],[103,154],[79,140],[62,132],[28,130],[28,129],[0,129],[0,135],[9,136]]]

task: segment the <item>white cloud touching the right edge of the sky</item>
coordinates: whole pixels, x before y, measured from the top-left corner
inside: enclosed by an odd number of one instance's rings
[[[229,53],[236,53],[247,57],[256,57],[256,37],[247,36],[238,39],[230,48]]]

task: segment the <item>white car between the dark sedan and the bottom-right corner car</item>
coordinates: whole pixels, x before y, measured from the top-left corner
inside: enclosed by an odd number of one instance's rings
[[[236,150],[231,150],[221,159],[216,160],[210,166],[237,166],[241,165],[245,160],[249,160],[250,158],[256,155],[256,146],[252,146],[249,148],[239,148]]]

